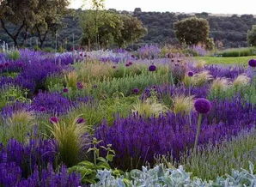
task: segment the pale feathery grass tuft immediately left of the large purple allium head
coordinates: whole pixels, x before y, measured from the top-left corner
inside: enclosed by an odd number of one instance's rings
[[[193,110],[194,96],[176,95],[174,96],[173,112],[175,114],[189,114]]]

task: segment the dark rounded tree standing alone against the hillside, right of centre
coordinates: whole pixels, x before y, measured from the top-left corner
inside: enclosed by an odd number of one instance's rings
[[[209,40],[209,22],[203,18],[190,17],[174,24],[176,37],[186,45],[206,44]]]

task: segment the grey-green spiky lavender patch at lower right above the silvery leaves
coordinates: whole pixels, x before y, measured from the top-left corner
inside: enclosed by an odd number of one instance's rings
[[[192,172],[193,176],[215,179],[230,173],[232,169],[248,169],[248,160],[256,163],[255,143],[255,130],[243,132],[230,142],[222,142],[217,146],[210,144],[198,149],[198,153],[186,154],[179,164],[184,165],[186,171]]]

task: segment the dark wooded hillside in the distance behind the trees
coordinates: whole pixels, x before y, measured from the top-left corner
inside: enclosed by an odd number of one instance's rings
[[[76,13],[79,14],[81,11],[81,9],[76,10]],[[140,9],[136,9],[132,13],[127,11],[122,11],[121,13],[137,16],[141,21],[143,21],[144,26],[148,28],[148,35],[141,39],[139,45],[153,43],[160,45],[167,43],[176,44],[177,39],[175,39],[174,34],[174,22],[192,15],[206,18],[210,22],[210,36],[214,38],[215,41],[221,42],[225,48],[247,46],[247,31],[251,29],[252,25],[256,24],[256,18],[253,15],[210,15],[207,13],[183,14],[170,12],[161,13],[143,12]],[[58,45],[63,43],[64,39],[67,39],[67,47],[71,48],[74,33],[75,45],[78,46],[79,39],[82,35],[82,30],[79,27],[78,17],[72,15],[65,17],[64,25],[65,27],[58,34]],[[1,29],[0,39],[11,44],[11,40]],[[35,44],[35,37],[27,39],[27,46]],[[46,40],[45,46],[54,48],[54,37],[49,36]]]

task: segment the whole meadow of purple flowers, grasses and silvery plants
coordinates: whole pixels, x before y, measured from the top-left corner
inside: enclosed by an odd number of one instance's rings
[[[3,49],[0,186],[255,186],[255,105],[254,59]]]

